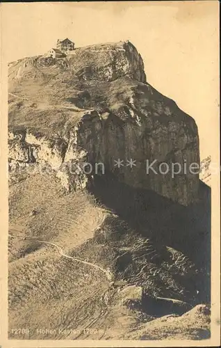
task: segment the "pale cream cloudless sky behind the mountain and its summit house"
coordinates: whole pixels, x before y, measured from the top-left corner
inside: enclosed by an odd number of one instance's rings
[[[58,38],[75,47],[129,40],[147,81],[195,118],[201,159],[219,127],[218,1],[2,3],[2,56],[44,54]]]

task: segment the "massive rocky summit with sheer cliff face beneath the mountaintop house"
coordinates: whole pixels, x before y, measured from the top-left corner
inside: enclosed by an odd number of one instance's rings
[[[9,148],[10,170],[48,164],[69,191],[111,172],[182,205],[197,199],[195,121],[147,83],[130,42],[10,63]]]

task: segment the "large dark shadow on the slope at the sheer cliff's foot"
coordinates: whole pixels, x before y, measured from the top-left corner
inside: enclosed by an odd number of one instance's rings
[[[188,207],[152,190],[134,189],[110,173],[95,175],[90,189],[99,202],[143,237],[181,251],[204,276],[197,280],[199,303],[210,301],[211,189],[199,183],[199,200]]]

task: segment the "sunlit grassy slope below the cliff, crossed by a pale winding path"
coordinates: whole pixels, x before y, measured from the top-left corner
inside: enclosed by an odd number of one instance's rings
[[[141,274],[144,277],[142,282],[147,281],[150,292],[158,287],[158,276],[150,279],[149,272],[153,267],[156,269],[159,260],[153,264],[147,257],[142,257],[142,253],[146,251],[144,240],[136,234],[131,235],[133,231],[128,230],[123,221],[97,205],[86,191],[63,195],[52,174],[29,175],[12,184],[10,190],[11,235],[31,235],[56,242],[64,247],[68,255],[94,262],[105,269],[110,267],[119,280],[125,274],[132,276],[131,280],[127,277],[126,283],[136,283],[139,269],[146,264],[145,273]],[[37,214],[30,216],[33,209]],[[98,232],[99,228],[101,232]],[[119,240],[119,233],[123,231],[124,235]],[[97,237],[93,239],[95,232]],[[138,250],[134,256],[139,256],[140,261],[132,264],[137,270],[133,273],[133,269],[125,266],[122,272],[117,264],[126,265],[126,259],[122,258],[120,263],[117,259],[121,254],[131,253],[135,246]],[[140,313],[139,309],[129,310],[122,299],[130,299],[130,296],[123,294],[123,289],[110,288],[101,271],[63,258],[53,246],[9,237],[9,252],[10,338],[74,339],[81,333],[79,339],[140,339],[149,332],[149,326],[143,326],[140,322],[140,315],[147,322],[156,319]],[[166,260],[164,253],[161,255],[159,251],[158,256],[163,258],[162,261]],[[153,280],[156,283],[152,284]],[[122,284],[125,286],[126,283]],[[95,324],[90,326],[89,331],[87,327],[93,320]],[[174,338],[177,333],[183,337],[186,335],[186,329],[176,320],[174,319],[172,328],[169,323],[166,336],[172,334],[176,325],[178,329],[175,330]],[[199,322],[195,327],[200,329],[201,325],[202,322]],[[30,328],[28,335],[15,337],[10,330],[18,326]],[[55,329],[56,332],[41,335],[37,331],[40,327]],[[208,329],[208,323],[205,322],[204,327]],[[65,329],[73,331],[67,333]],[[84,329],[87,330],[83,331]],[[136,334],[134,330],[137,330]],[[153,327],[152,332],[153,338],[165,338],[162,333],[158,335]],[[194,338],[198,331],[191,332],[188,329],[188,336]]]

